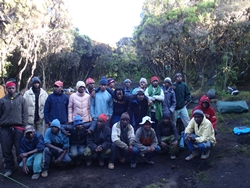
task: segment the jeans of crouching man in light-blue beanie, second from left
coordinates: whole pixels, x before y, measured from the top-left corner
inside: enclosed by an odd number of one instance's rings
[[[55,159],[57,159],[61,155],[60,153],[58,153],[57,150],[50,149],[48,147],[44,148],[43,154],[44,154],[44,156],[43,156],[43,169],[44,170],[49,169],[49,165],[50,165],[52,157],[55,157]],[[70,158],[69,154],[66,153],[61,162],[62,163],[69,163],[70,161],[71,161],[71,158]]]

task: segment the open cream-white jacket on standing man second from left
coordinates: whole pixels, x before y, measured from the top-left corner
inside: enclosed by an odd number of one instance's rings
[[[28,106],[28,123],[33,125],[34,120],[35,120],[35,100],[36,96],[32,90],[32,87],[27,90],[23,97],[26,99],[27,106]],[[39,118],[43,119],[44,118],[44,106],[45,106],[45,101],[48,97],[48,94],[46,91],[44,91],[42,88],[40,88],[40,95],[39,95],[39,100],[38,100],[38,114]]]

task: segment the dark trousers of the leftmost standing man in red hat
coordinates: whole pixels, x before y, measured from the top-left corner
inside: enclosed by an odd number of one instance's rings
[[[23,131],[13,127],[2,127],[0,131],[0,140],[2,146],[2,155],[5,169],[15,167],[14,155],[12,153],[13,145],[16,149],[16,157],[20,155],[20,142],[23,137]],[[17,161],[20,162],[19,160]]]

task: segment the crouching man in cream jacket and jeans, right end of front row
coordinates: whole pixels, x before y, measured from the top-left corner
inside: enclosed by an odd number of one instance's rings
[[[185,158],[186,161],[198,157],[199,152],[202,152],[201,159],[207,159],[211,147],[216,144],[213,126],[204,113],[201,110],[195,110],[193,116],[185,129],[185,143],[191,151],[191,154]]]

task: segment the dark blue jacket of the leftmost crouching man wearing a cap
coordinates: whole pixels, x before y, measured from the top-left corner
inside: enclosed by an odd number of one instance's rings
[[[38,152],[42,152],[45,147],[43,136],[35,132],[34,138],[32,140],[28,140],[25,136],[21,139],[20,144],[20,153],[27,153],[34,149],[37,149]]]

